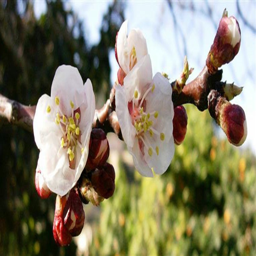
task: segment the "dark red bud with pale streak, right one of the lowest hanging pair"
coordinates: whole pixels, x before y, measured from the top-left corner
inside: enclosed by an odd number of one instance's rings
[[[71,189],[65,205],[64,222],[71,236],[80,235],[84,227],[84,208],[80,196],[75,188]]]

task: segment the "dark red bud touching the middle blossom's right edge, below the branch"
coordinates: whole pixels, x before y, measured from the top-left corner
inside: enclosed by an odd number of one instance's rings
[[[185,139],[187,132],[188,116],[186,109],[183,106],[174,108],[173,124],[173,138],[177,145],[180,145]]]

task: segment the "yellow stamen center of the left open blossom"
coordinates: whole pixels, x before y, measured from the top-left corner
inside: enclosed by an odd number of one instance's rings
[[[60,127],[60,131],[63,135],[60,140],[60,147],[67,149],[69,166],[70,168],[75,168],[76,145],[81,148],[81,153],[84,151],[81,144],[81,131],[79,128],[79,123],[81,120],[80,108],[74,110],[74,103],[72,100],[70,100],[71,116],[67,116],[62,113],[59,107],[60,98],[58,96],[55,97],[55,104],[57,106],[57,113],[54,122]],[[46,112],[51,112],[50,106],[47,106]]]

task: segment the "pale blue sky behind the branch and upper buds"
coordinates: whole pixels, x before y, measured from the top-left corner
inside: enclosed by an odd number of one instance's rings
[[[103,14],[107,11],[109,1],[70,1],[66,2],[66,8],[72,8],[78,18],[84,21],[87,31],[86,38],[91,44],[100,40],[99,28]],[[173,2],[173,11],[179,30],[186,40],[188,63],[195,68],[189,80],[197,76],[205,64],[206,56],[213,42],[216,26],[219,24],[224,8],[228,10],[228,16],[237,17],[241,28],[241,46],[238,55],[228,65],[224,65],[223,81],[244,86],[241,95],[231,102],[240,105],[245,112],[247,120],[247,139],[242,148],[250,146],[256,153],[256,36],[244,25],[237,13],[235,1],[209,1],[208,6],[203,1],[194,1],[192,12],[184,10],[180,6],[188,6],[188,2]],[[212,20],[205,16],[208,9],[212,9]],[[241,11],[246,19],[255,26],[256,4],[254,1],[243,1],[240,4]],[[36,16],[45,12],[44,1],[34,3]],[[153,74],[166,72],[171,81],[176,79],[183,65],[184,44],[181,33],[174,29],[172,13],[166,1],[127,1],[125,18],[128,20],[128,32],[132,28],[140,28],[147,40],[148,52],[152,61]],[[115,42],[113,42],[115,44]],[[114,51],[110,53],[111,80],[116,80],[118,65]],[[85,79],[85,78],[84,78]],[[188,118],[191,118],[188,116]],[[220,132],[220,136],[225,136]]]

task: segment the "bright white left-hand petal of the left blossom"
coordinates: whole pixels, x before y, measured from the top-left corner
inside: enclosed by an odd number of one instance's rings
[[[46,111],[48,106],[51,108],[50,113]],[[55,123],[56,113],[55,105],[51,106],[51,98],[46,94],[42,95],[37,102],[33,121],[35,142],[40,150],[44,144],[48,143],[46,138],[49,135],[54,138],[52,143],[60,142],[62,134],[60,127]]]

